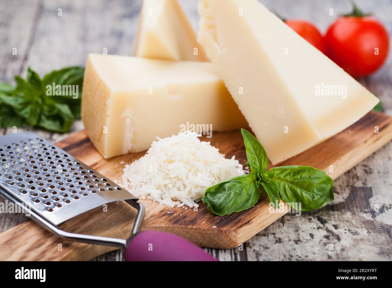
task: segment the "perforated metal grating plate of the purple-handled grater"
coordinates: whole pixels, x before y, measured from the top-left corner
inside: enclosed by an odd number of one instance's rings
[[[105,203],[138,199],[33,132],[0,137],[0,186],[54,225]]]

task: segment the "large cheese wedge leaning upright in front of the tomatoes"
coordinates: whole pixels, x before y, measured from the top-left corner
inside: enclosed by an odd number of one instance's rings
[[[333,136],[379,102],[257,0],[200,0],[198,8],[198,41],[272,163]]]

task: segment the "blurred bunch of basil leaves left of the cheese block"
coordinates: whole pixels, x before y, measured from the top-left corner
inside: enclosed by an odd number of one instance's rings
[[[67,67],[40,78],[28,69],[26,79],[15,76],[16,86],[0,83],[0,127],[29,125],[53,132],[69,131],[80,119],[83,67]],[[78,85],[79,97],[47,95],[47,85]]]

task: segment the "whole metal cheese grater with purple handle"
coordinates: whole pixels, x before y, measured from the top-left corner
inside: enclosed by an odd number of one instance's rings
[[[128,261],[215,261],[177,235],[142,231],[144,206],[113,181],[33,132],[0,137],[0,196],[59,237],[121,247]],[[116,239],[76,234],[57,225],[105,203],[124,200],[138,210],[131,237]],[[153,245],[154,249],[149,247]]]

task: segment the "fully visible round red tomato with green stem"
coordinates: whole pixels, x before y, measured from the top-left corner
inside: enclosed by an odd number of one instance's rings
[[[338,18],[328,28],[325,43],[327,56],[353,77],[376,71],[389,48],[387,30],[371,16]]]

